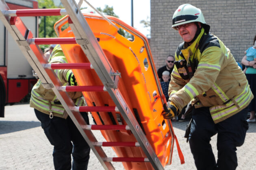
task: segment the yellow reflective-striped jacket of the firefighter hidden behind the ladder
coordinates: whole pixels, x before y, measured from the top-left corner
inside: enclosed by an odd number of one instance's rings
[[[67,59],[63,54],[63,51],[60,45],[57,45],[50,55],[49,63],[67,63]],[[54,70],[59,80],[63,85],[67,85],[67,72],[68,69],[58,69]],[[67,92],[69,96],[72,98],[73,102],[76,106],[84,106],[85,101],[81,92]],[[64,107],[61,105],[59,100],[56,98],[56,95],[52,91],[52,89],[45,89],[42,85],[40,79],[34,85],[31,91],[30,98],[30,107],[33,107],[40,112],[50,114],[52,111],[53,116],[62,117],[64,119],[67,118],[68,114],[65,111]]]

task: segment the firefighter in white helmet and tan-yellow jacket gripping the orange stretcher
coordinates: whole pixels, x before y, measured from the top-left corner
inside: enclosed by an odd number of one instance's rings
[[[246,106],[254,97],[242,70],[230,50],[209,32],[199,8],[182,4],[174,12],[172,28],[184,42],[175,53],[167,106],[171,119],[189,102],[192,121],[189,145],[199,170],[234,170],[236,147],[240,147],[248,129]],[[217,135],[217,161],[210,138]]]

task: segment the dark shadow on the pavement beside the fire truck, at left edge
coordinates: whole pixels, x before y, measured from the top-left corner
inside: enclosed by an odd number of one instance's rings
[[[38,121],[0,121],[0,134],[8,134],[41,126]]]

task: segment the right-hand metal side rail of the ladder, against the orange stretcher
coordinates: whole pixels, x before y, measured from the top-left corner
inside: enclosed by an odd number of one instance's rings
[[[129,125],[133,135],[139,142],[145,155],[150,160],[150,163],[154,169],[163,170],[163,165],[159,161],[152,146],[145,137],[145,134],[143,133],[139,123],[132,114],[132,110],[126,104],[124,97],[122,94],[120,94],[119,90],[115,88],[115,85],[111,85],[111,83],[114,83],[113,81],[117,81],[118,77],[115,76],[113,80],[113,77],[110,76],[111,70],[113,69],[111,68],[106,56],[104,55],[100,45],[98,44],[98,41],[91,31],[87,21],[85,20],[85,17],[79,10],[76,2],[74,0],[61,0],[61,2],[67,10],[69,17],[71,18],[71,21],[69,20],[69,26],[71,27],[72,32],[77,39],[81,39],[81,42],[78,44],[86,54],[89,62],[93,65],[95,72],[98,74],[103,85],[106,87],[108,94],[115,102],[124,120]],[[106,69],[100,69],[100,66],[103,66],[103,68]]]

